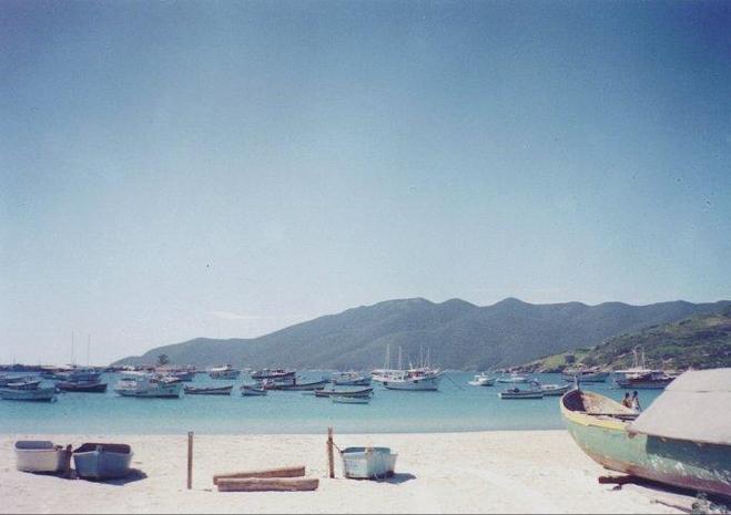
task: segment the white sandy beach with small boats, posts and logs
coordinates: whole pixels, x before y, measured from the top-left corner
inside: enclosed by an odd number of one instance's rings
[[[13,443],[132,445],[125,484],[68,481],[16,471]],[[185,488],[186,436],[0,436],[2,513],[680,513],[692,497],[626,485],[607,474],[565,431],[335,435],[341,447],[390,446],[390,482],[327,480],[325,435],[196,435],[193,490]],[[219,493],[214,473],[304,464],[317,492]],[[336,474],[342,477],[336,460]],[[662,499],[658,503],[658,499]],[[670,505],[669,505],[670,504]]]

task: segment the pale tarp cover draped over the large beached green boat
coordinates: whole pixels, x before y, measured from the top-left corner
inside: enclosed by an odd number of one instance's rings
[[[731,445],[731,369],[683,373],[632,422],[629,431]]]

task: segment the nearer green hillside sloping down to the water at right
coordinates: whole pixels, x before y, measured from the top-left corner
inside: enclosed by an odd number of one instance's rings
[[[578,365],[620,370],[632,365],[632,350],[637,347],[644,350],[648,367],[669,370],[731,367],[731,308],[621,334],[593,349],[549,356],[520,370],[554,372]]]

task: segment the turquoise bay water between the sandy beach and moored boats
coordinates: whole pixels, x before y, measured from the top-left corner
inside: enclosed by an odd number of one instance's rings
[[[321,373],[306,373],[318,379]],[[302,392],[270,392],[242,398],[189,395],[180,400],[121,398],[112,387],[114,374],[103,379],[105,394],[64,393],[54,403],[0,401],[0,433],[48,434],[172,434],[197,433],[322,433],[332,425],[339,433],[419,433],[487,430],[562,429],[560,398],[504,401],[506,385],[476,388],[470,373],[448,373],[439,392],[397,392],[376,385],[370,404],[334,404]],[[562,384],[559,374],[535,375],[542,383]],[[197,374],[194,385],[230,384]],[[611,383],[587,384],[612,399],[623,391]],[[643,408],[659,391],[640,392]]]

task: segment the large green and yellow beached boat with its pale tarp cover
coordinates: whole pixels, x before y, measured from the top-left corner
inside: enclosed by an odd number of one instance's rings
[[[731,369],[683,373],[639,415],[581,390],[560,405],[575,442],[600,465],[731,496]]]

